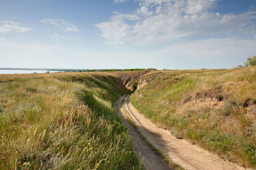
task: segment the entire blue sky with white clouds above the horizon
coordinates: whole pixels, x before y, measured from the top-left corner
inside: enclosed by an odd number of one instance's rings
[[[0,1],[0,67],[231,68],[255,49],[256,0]]]

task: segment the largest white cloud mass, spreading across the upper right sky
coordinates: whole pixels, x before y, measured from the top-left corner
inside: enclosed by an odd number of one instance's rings
[[[255,11],[241,15],[212,10],[217,0],[137,0],[140,8],[95,25],[111,44],[156,45],[187,36],[255,36]],[[132,20],[133,22],[127,22]]]

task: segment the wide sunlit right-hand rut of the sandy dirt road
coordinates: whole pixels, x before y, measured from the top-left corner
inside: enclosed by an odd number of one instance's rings
[[[122,110],[123,99],[125,100],[125,110],[129,117],[131,117],[132,122],[138,127],[141,134],[143,134],[155,148],[163,152],[172,162],[179,164],[185,169],[244,169],[237,164],[222,160],[220,157],[196,145],[191,145],[184,139],[177,139],[172,136],[169,131],[157,127],[156,124],[152,123],[148,118],[143,117],[143,115],[132,106],[129,102],[129,96],[122,96],[117,101],[118,115],[120,115],[121,118],[123,117],[122,119],[125,118],[124,110]],[[140,145],[136,147],[139,147],[137,149],[140,150],[141,153],[143,152],[143,148],[140,148]],[[144,156],[146,155],[144,154]]]

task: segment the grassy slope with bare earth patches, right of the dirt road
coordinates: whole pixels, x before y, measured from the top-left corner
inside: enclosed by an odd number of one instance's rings
[[[177,138],[256,167],[256,67],[152,71],[131,96],[141,113]]]

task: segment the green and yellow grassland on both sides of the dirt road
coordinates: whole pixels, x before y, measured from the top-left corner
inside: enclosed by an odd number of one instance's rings
[[[256,167],[256,67],[144,72],[131,79],[141,113]],[[141,169],[113,108],[133,73],[117,74],[0,75],[0,169]]]

